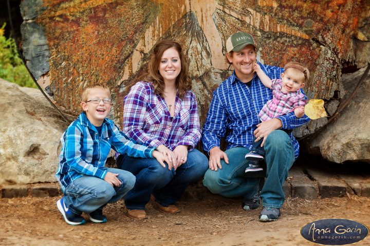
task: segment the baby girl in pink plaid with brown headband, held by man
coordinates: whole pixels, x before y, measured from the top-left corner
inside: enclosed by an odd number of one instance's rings
[[[308,68],[304,67],[300,63],[292,61],[285,65],[285,70],[284,73],[281,74],[281,79],[273,80],[271,80],[264,73],[264,71],[262,71],[260,65],[254,64],[253,68],[260,78],[262,84],[273,90],[273,98],[264,105],[260,114],[258,114],[258,117],[260,117],[261,121],[266,121],[283,114],[288,114],[292,111],[294,111],[295,117],[303,117],[303,106],[306,104],[306,100],[300,89],[303,88],[305,86],[305,82],[308,81]],[[253,138],[251,152],[245,156],[247,160],[251,160],[249,162],[249,167],[246,168],[245,172],[263,170],[260,162],[258,161],[264,159],[264,142],[264,136],[257,136]]]

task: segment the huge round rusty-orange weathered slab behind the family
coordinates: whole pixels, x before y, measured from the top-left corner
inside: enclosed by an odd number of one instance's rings
[[[246,31],[254,35],[263,63],[305,63],[312,74],[304,88],[307,96],[324,99],[336,110],[344,95],[342,69],[370,63],[369,3],[24,0],[22,49],[36,79],[71,111],[79,110],[79,92],[86,84],[109,86],[112,118],[119,122],[122,98],[146,70],[154,45],[164,38],[176,40],[189,61],[202,125],[213,90],[230,74],[226,39]],[[310,134],[325,123],[313,120],[295,134]]]

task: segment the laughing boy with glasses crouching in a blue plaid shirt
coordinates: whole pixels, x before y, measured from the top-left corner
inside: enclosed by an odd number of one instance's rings
[[[110,119],[112,103],[109,88],[94,84],[82,95],[82,109],[61,137],[62,151],[55,174],[64,197],[57,207],[71,225],[85,223],[82,213],[96,223],[106,222],[102,214],[107,203],[121,199],[135,185],[135,176],[127,171],[104,168],[110,148],[119,153],[142,158],[156,158],[163,167],[168,158],[155,148],[138,145],[129,140]]]

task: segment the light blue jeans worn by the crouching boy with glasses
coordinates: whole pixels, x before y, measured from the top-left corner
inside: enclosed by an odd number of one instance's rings
[[[107,203],[121,199],[135,185],[135,176],[127,171],[108,168],[108,172],[118,173],[119,187],[113,187],[103,179],[94,176],[82,176],[73,180],[64,190],[65,203],[73,213],[89,214]]]

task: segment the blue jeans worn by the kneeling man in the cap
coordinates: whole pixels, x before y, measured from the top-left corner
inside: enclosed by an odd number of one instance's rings
[[[275,130],[267,136],[264,148],[267,178],[261,191],[262,205],[281,208],[285,200],[283,183],[294,162],[294,148],[289,135],[281,130]],[[222,169],[207,170],[203,185],[212,193],[226,197],[252,198],[258,189],[256,177],[263,177],[264,174],[262,172],[245,173],[249,161],[244,156],[249,152],[250,150],[244,147],[235,147],[225,151],[229,164],[221,159]]]

